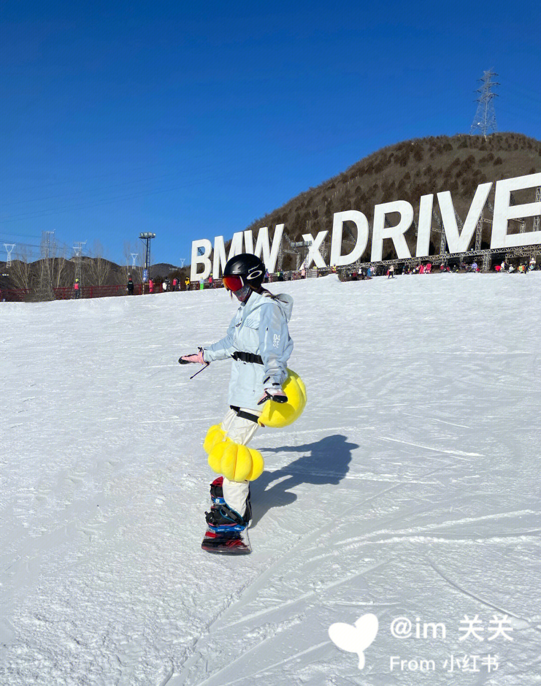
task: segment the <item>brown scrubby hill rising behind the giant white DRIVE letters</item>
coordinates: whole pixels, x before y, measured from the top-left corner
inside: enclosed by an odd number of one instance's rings
[[[256,220],[247,228],[268,226],[274,233],[276,224],[285,224],[291,241],[301,241],[303,233],[313,236],[333,228],[333,213],[355,209],[363,212],[372,224],[374,205],[392,200],[407,200],[415,211],[417,222],[420,196],[450,191],[455,209],[466,218],[475,189],[480,183],[496,181],[541,170],[541,141],[516,133],[497,133],[484,139],[461,134],[415,139],[389,145],[355,163],[342,174],[311,188],[285,205]],[[531,193],[530,193],[531,195]],[[488,198],[492,202],[494,189]],[[525,191],[516,194],[516,202],[531,202]],[[438,211],[437,202],[434,202]],[[392,215],[389,216],[392,221]],[[433,227],[437,225],[433,222]],[[354,224],[349,227],[354,236]],[[528,227],[527,227],[528,228]],[[531,227],[530,227],[531,228]],[[488,247],[488,232],[483,235],[483,248]],[[415,230],[406,234],[410,249],[415,243]],[[439,252],[439,235],[431,237],[431,254]],[[371,241],[369,240],[368,246]],[[413,254],[413,252],[412,252]],[[385,241],[383,259],[395,257],[391,241]],[[368,248],[363,256],[368,261]],[[296,258],[285,255],[282,268],[295,268]]]

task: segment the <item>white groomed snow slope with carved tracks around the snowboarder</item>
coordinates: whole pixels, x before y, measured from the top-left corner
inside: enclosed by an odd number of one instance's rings
[[[245,558],[200,549],[230,365],[177,363],[226,292],[0,304],[2,685],[541,683],[541,272],[272,289],[309,404],[254,438]]]

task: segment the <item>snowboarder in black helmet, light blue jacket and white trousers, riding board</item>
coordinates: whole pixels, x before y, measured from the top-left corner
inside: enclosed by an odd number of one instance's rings
[[[209,437],[215,429],[221,432],[219,437],[227,441],[226,446],[232,444],[237,449],[233,478],[222,480],[220,477],[211,484],[213,506],[206,512],[208,533],[202,547],[217,552],[250,552],[249,543],[246,545],[239,534],[245,531],[252,518],[250,480],[263,471],[263,458],[257,451],[243,447],[259,428],[263,405],[268,400],[287,403],[282,384],[286,381],[286,364],[293,350],[287,328],[293,298],[269,293],[261,285],[264,275],[265,265],[259,257],[249,253],[232,257],[224,268],[223,283],[240,305],[226,336],[179,360],[181,364],[210,364],[233,358],[228,394],[230,409],[221,426],[209,429],[205,441],[207,449],[210,445],[207,441],[211,440]],[[213,452],[208,452],[210,463]],[[239,460],[247,462],[248,467],[252,465],[248,478],[237,475],[237,468],[241,468]],[[226,471],[223,462],[221,468]],[[229,542],[224,542],[224,536]]]

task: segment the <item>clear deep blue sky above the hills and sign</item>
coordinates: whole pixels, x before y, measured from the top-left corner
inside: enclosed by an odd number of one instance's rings
[[[233,6],[234,4],[234,6]],[[541,3],[27,2],[0,34],[0,248],[230,237],[385,145],[541,135]],[[32,248],[37,252],[38,248]],[[4,251],[3,251],[4,252]]]

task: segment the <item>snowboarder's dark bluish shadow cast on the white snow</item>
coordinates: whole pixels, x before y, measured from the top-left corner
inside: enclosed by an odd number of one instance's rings
[[[297,499],[291,489],[300,484],[333,484],[337,486],[349,471],[351,451],[359,446],[349,443],[346,436],[334,434],[305,445],[284,445],[266,448],[265,453],[308,453],[293,460],[282,469],[264,471],[250,484],[252,498],[252,527],[256,526],[271,508],[283,507]],[[287,478],[284,478],[287,477]],[[271,486],[272,482],[278,484]]]

